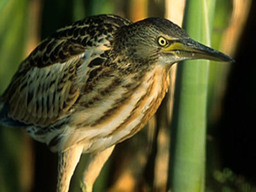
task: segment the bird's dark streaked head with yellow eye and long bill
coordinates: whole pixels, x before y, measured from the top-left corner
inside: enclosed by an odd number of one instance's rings
[[[234,61],[211,47],[192,40],[170,20],[148,18],[124,26],[115,36],[116,51],[132,61],[170,64],[184,60]]]

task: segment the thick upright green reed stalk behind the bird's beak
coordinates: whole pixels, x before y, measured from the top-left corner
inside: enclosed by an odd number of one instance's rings
[[[210,44],[214,0],[187,1],[185,26],[191,38]],[[209,63],[178,65],[172,122],[170,188],[173,192],[204,191],[205,134]]]

